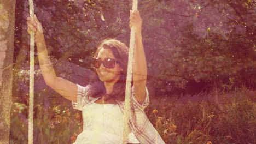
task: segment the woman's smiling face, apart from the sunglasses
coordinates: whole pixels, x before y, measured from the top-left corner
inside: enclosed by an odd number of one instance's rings
[[[115,61],[118,61],[114,57],[112,50],[108,48],[103,48],[103,47],[98,52],[97,58],[100,58],[102,61],[105,58],[112,58],[112,59],[115,59]],[[100,80],[103,82],[111,82],[111,83],[115,83],[119,80],[121,71],[122,71],[122,68],[120,67],[119,63],[116,63],[115,67],[112,69],[105,68],[103,64],[100,65],[100,68],[96,68],[96,72]]]

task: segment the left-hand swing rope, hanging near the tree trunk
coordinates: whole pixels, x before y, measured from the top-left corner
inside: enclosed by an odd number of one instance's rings
[[[30,4],[30,17],[34,16],[33,0]],[[33,19],[33,18],[32,18]],[[33,107],[34,107],[34,32],[30,32],[30,103],[28,112],[28,144],[33,144]]]

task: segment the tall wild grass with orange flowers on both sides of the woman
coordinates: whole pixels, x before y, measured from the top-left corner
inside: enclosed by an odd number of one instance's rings
[[[218,103],[212,99],[216,95]],[[256,100],[248,89],[151,101],[145,112],[166,143],[255,143]],[[69,101],[50,107],[38,104],[34,111],[37,143],[73,143],[82,131],[81,112]],[[10,143],[27,143],[27,116],[27,106],[14,103]]]

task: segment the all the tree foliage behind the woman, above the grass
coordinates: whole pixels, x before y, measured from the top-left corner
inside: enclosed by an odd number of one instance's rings
[[[16,8],[17,68],[29,45],[27,2],[19,3],[25,8]],[[50,55],[58,60],[92,69],[91,55],[99,41],[129,41],[130,1],[36,0],[35,4]],[[138,8],[148,80],[158,91],[167,92],[170,85],[193,91],[196,83],[222,87],[229,79],[237,86],[255,87],[255,1],[152,0],[139,1]]]

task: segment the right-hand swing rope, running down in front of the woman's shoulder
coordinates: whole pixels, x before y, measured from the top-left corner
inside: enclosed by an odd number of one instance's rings
[[[132,10],[137,10],[138,1],[132,1]],[[128,68],[126,77],[126,88],[125,88],[125,105],[124,105],[124,127],[123,127],[123,144],[126,144],[126,139],[129,135],[129,119],[131,117],[131,81],[132,81],[132,67],[135,47],[135,29],[131,27],[130,35],[130,49],[128,56]]]

